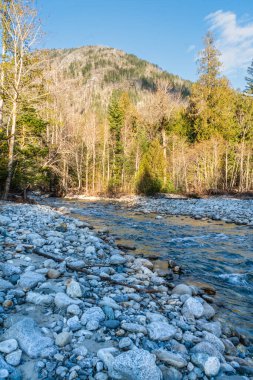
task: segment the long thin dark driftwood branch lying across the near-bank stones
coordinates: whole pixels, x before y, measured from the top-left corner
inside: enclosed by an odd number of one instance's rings
[[[47,259],[52,259],[58,263],[65,263],[66,264],[66,268],[72,270],[72,271],[76,271],[76,272],[82,272],[82,273],[85,273],[85,274],[88,274],[88,275],[94,275],[94,273],[92,273],[92,271],[90,271],[89,269],[87,269],[87,267],[98,267],[98,266],[102,266],[102,267],[105,267],[106,265],[97,265],[97,264],[89,264],[88,266],[86,266],[85,264],[85,267],[77,267],[75,265],[71,265],[70,263],[68,263],[67,261],[65,261],[65,259],[63,259],[62,257],[59,257],[59,256],[53,256],[49,253],[45,253],[45,252],[42,252],[41,250],[38,250],[38,249],[34,249],[33,251],[36,255],[38,256],[42,256],[42,257],[45,257]],[[146,293],[146,294],[154,294],[154,293],[160,293],[161,291],[160,290],[157,290],[157,289],[147,289],[147,288],[143,288],[143,287],[139,287],[137,285],[131,285],[131,284],[127,284],[125,282],[122,282],[122,281],[115,281],[115,280],[112,280],[111,278],[108,278],[107,276],[103,276],[103,275],[99,275],[99,274],[96,274],[96,276],[98,276],[102,281],[105,281],[105,282],[108,282],[112,285],[120,285],[120,286],[125,286],[125,287],[128,287],[128,288],[132,288],[132,289],[135,289],[136,292],[138,293]]]

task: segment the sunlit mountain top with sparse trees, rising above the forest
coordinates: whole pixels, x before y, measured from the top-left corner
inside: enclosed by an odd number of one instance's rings
[[[62,92],[79,111],[85,111],[92,95],[102,103],[109,100],[113,90],[134,95],[154,91],[157,83],[169,84],[170,91],[187,96],[191,82],[168,73],[157,65],[133,54],[104,46],[84,46],[73,49],[53,49],[48,52],[48,75],[52,87]]]

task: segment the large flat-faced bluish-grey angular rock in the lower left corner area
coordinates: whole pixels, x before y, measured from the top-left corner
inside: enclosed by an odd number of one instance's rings
[[[35,321],[28,317],[12,325],[4,335],[10,339],[15,338],[30,358],[39,357],[47,347],[53,346],[53,340],[44,337]]]

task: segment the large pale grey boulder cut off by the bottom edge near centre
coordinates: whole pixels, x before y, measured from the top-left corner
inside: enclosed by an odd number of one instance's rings
[[[162,373],[155,364],[155,355],[142,349],[126,351],[118,355],[109,370],[112,379],[161,380]]]

